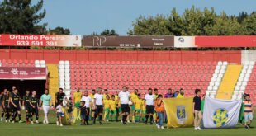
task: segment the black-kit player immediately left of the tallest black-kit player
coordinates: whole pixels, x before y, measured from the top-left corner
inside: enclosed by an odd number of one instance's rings
[[[2,96],[2,110],[5,112],[6,122],[10,122],[9,118],[12,114],[10,108],[8,108],[9,94],[10,92],[7,90],[6,94]]]

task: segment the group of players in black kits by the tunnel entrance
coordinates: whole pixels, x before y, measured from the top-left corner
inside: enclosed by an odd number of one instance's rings
[[[39,100],[36,98],[36,91],[26,91],[26,96],[23,96],[23,101],[21,105],[21,96],[18,93],[18,90],[15,86],[12,87],[12,91],[8,91],[4,89],[3,94],[1,96],[2,100],[2,118],[5,115],[6,122],[14,123],[16,121],[16,117],[18,115],[19,123],[22,123],[21,120],[21,107],[22,109],[26,109],[26,121],[31,120],[31,124],[33,122],[33,115],[36,115],[36,124],[38,124],[38,107]],[[28,122],[29,123],[29,122]]]

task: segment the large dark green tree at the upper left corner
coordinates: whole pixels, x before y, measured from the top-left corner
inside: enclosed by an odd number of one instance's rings
[[[0,33],[2,34],[45,34],[45,26],[39,25],[46,11],[43,0],[31,5],[31,0],[3,0],[0,2]]]

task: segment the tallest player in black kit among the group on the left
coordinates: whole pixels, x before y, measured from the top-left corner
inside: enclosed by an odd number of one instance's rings
[[[19,123],[21,123],[21,97],[17,89],[11,93],[8,103],[8,107],[11,107],[12,110],[12,123],[15,122],[14,119],[17,115],[19,116]]]

